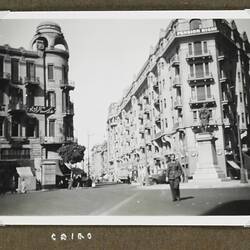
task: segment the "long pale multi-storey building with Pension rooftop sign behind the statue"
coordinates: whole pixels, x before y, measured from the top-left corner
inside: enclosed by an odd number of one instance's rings
[[[129,90],[109,108],[108,157],[117,174],[128,169],[140,180],[175,153],[192,176],[206,107],[214,164],[226,176],[228,157],[238,160],[237,127],[242,135],[249,128],[249,53],[234,21],[176,19],[161,30]]]

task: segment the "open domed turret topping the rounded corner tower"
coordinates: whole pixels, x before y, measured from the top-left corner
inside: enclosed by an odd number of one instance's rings
[[[43,44],[43,46],[39,46]],[[68,52],[68,44],[64,39],[61,27],[54,22],[43,22],[38,25],[36,34],[31,41],[31,48],[34,49],[60,49]]]

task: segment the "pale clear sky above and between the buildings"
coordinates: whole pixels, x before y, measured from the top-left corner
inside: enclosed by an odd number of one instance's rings
[[[39,23],[46,20],[0,20],[0,44],[29,49]],[[69,79],[75,82],[75,137],[90,148],[106,138],[110,103],[121,99],[149,56],[169,19],[49,19],[61,26],[69,46]],[[250,39],[250,20],[236,20]]]

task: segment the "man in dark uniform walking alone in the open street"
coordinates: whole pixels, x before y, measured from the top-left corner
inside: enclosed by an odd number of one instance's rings
[[[181,164],[175,159],[175,154],[171,154],[166,170],[166,181],[169,182],[173,201],[180,200],[181,176],[183,176]]]

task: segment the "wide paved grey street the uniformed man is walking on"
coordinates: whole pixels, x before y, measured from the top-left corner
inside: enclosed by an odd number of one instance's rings
[[[0,196],[0,215],[250,215],[250,187],[158,189],[114,184]],[[166,186],[166,188],[164,188]],[[157,188],[157,187],[156,187]]]

